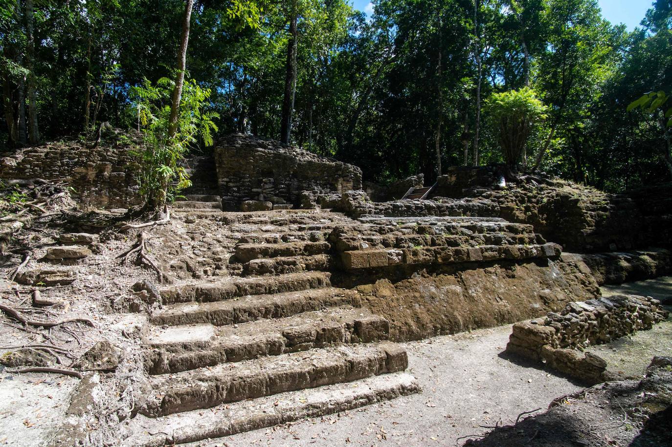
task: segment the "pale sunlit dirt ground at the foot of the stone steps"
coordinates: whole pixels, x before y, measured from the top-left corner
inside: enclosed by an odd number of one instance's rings
[[[603,287],[603,295],[615,293],[663,298],[672,295],[672,277]],[[484,426],[513,424],[523,411],[540,409],[540,413],[553,399],[583,389],[536,366],[500,356],[509,334],[511,325],[406,343],[409,372],[423,387],[419,395],[190,447],[461,446],[468,439],[463,437],[491,431]],[[608,357],[610,367],[618,364],[635,375],[642,374],[651,357],[670,355],[671,350],[672,317],[598,352]]]

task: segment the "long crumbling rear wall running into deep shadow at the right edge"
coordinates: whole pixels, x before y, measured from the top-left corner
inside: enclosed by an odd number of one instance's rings
[[[489,183],[493,168],[464,169],[484,172]],[[672,186],[645,191],[607,194],[575,183],[525,178],[507,187],[462,189],[468,182],[451,187],[449,175],[439,179],[431,200],[398,200],[375,203],[363,191],[344,195],[340,210],[353,217],[383,215],[502,217],[529,223],[550,242],[564,250],[581,253],[614,252],[672,246]],[[476,182],[477,183],[477,182]],[[461,198],[448,197],[462,191]],[[445,193],[446,196],[443,196]]]

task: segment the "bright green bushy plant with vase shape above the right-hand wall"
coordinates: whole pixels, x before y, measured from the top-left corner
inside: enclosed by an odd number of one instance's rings
[[[509,166],[520,161],[530,134],[546,119],[548,107],[537,99],[530,87],[493,93],[485,103],[491,126],[498,133],[499,145]]]

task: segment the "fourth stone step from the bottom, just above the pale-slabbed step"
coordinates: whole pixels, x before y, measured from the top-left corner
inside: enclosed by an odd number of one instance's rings
[[[341,305],[355,305],[355,293],[346,289],[325,287],[274,295],[213,301],[210,303],[177,303],[155,311],[149,319],[157,326],[210,323],[214,326],[241,324],[257,319],[282,318],[307,311]]]

